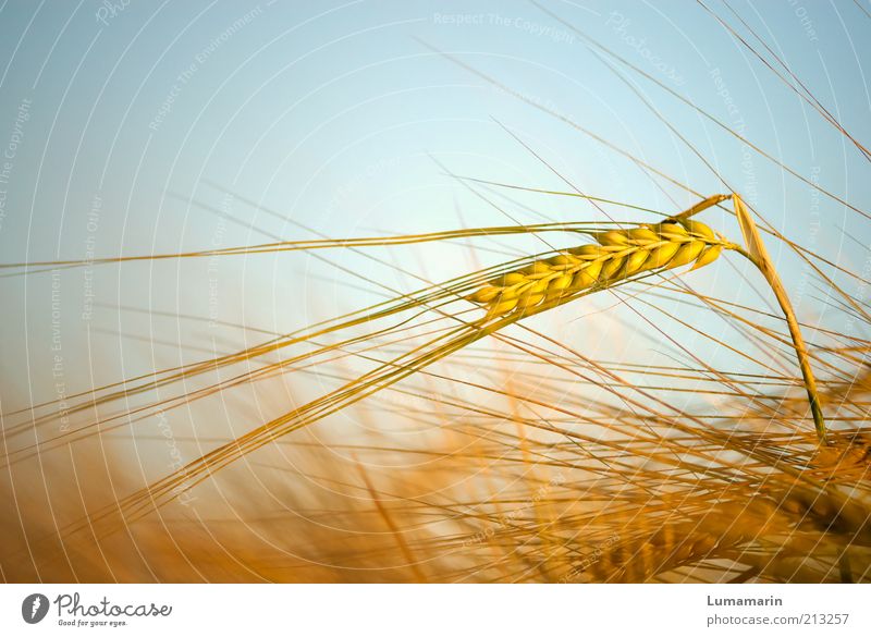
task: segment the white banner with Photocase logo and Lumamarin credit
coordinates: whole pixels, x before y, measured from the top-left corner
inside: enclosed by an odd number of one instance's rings
[[[867,585],[3,585],[0,635],[871,635]]]

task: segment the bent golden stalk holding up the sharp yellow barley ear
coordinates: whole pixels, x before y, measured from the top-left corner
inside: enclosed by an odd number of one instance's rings
[[[796,319],[796,313],[793,309],[793,304],[789,301],[789,296],[786,294],[786,289],[783,286],[783,282],[777,274],[777,270],[774,268],[774,264],[771,261],[771,257],[769,257],[768,250],[762,243],[762,237],[759,235],[759,231],[756,228],[752,217],[750,217],[750,212],[747,210],[747,207],[744,205],[744,201],[741,201],[741,198],[737,194],[734,194],[732,199],[735,205],[735,213],[738,217],[738,223],[740,224],[741,233],[744,234],[744,240],[748,248],[745,250],[740,246],[736,245],[733,246],[733,249],[744,255],[759,269],[760,272],[762,272],[765,281],[769,282],[769,286],[771,286],[772,292],[774,292],[774,297],[777,299],[777,303],[780,304],[781,309],[786,317],[786,324],[789,327],[789,335],[793,338],[793,347],[796,351],[798,366],[801,368],[801,376],[805,379],[805,389],[808,392],[808,401],[810,402],[811,414],[813,414],[813,425],[817,428],[817,436],[819,437],[821,444],[826,444],[825,420],[823,418],[820,395],[817,391],[817,379],[814,378],[813,370],[810,367],[808,347],[805,345],[805,339],[801,336],[801,330],[798,327],[798,319]]]

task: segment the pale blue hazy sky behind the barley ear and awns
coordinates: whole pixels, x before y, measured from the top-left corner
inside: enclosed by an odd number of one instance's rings
[[[799,174],[869,208],[868,161],[702,5],[592,0],[544,5]],[[871,139],[866,82],[871,19],[862,11],[871,7],[864,0],[859,5],[710,0],[708,5],[759,47],[734,9],[855,137]],[[428,46],[451,52],[527,101]],[[748,152],[662,88],[636,74],[626,77],[787,236],[857,272],[868,267],[871,221]],[[5,162],[0,260],[603,219],[575,199],[504,192],[493,195],[500,211],[445,175],[447,170],[567,188],[502,125],[588,194],[665,212],[694,203],[528,102],[699,193],[726,188],[577,34],[529,2],[7,0],[0,4]],[[627,220],[653,219],[611,210]],[[706,219],[737,237],[724,215],[714,211]],[[480,249],[473,258],[468,245],[375,254],[402,258],[436,281],[506,260],[512,250],[543,249],[531,238],[484,241],[475,244]],[[799,314],[834,330],[858,329],[820,303],[821,293],[797,259],[780,250],[775,257]],[[419,286],[351,253],[329,258],[394,289]],[[750,277],[746,266],[731,264],[694,273],[694,286],[721,296],[734,291],[736,302],[760,305],[741,278]],[[758,277],[755,281],[759,284]],[[58,355],[69,392],[177,363],[173,344],[179,342],[213,345],[217,339],[231,346],[220,332],[204,340],[203,323],[172,318],[179,314],[286,332],[383,293],[361,280],[353,287],[345,283],[333,266],[305,255],[0,280],[0,399],[5,411],[9,401],[11,408],[54,397]],[[847,285],[858,298],[868,296],[855,281]],[[604,307],[608,301],[590,304],[585,307]],[[540,320],[556,321],[568,332],[580,332],[578,326],[598,330],[586,342],[596,348],[615,323],[567,320],[584,311],[574,304]],[[710,329],[724,328],[712,321]],[[148,339],[147,355],[118,332]]]

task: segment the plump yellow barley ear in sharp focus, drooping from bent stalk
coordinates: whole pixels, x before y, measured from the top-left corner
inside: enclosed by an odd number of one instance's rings
[[[598,244],[569,248],[503,274],[469,299],[487,309],[487,318],[524,315],[543,303],[568,301],[582,291],[604,289],[642,272],[691,262],[692,269],[700,268],[731,245],[691,219],[608,230],[594,237]]]

